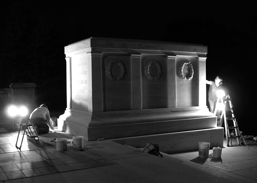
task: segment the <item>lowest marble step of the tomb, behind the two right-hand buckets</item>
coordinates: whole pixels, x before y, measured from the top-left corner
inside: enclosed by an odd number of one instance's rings
[[[135,148],[143,148],[147,142],[159,144],[161,152],[172,153],[190,150],[198,150],[198,142],[210,142],[210,148],[223,146],[222,127],[192,130],[183,132],[163,133],[155,135],[137,136],[108,139],[114,142],[129,145]]]

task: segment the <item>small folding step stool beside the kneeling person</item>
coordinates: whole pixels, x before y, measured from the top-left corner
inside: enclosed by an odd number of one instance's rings
[[[23,129],[24,129],[24,130],[23,130]],[[22,132],[21,132],[21,131],[22,131]],[[17,146],[17,143],[18,143],[18,140],[19,140],[19,135],[20,135],[20,133],[22,133],[23,136],[22,136],[22,140],[21,140],[21,145],[20,145],[20,147],[18,147],[18,146]],[[34,138],[35,141],[36,141],[36,143],[38,143],[38,141],[39,141],[40,144],[41,144],[41,147],[43,147],[43,145],[42,145],[42,143],[41,143],[41,140],[40,140],[39,137],[38,137],[38,133],[37,133],[36,130],[35,130],[34,125],[31,123],[30,119],[28,118],[28,119],[26,120],[26,123],[21,123],[21,124],[20,124],[20,130],[19,130],[18,137],[17,137],[17,141],[16,141],[16,144],[15,144],[15,146],[16,146],[17,149],[20,149],[20,150],[21,150],[21,146],[22,146],[22,142],[23,142],[23,138],[24,138],[25,134],[26,134],[27,137],[29,137],[29,138],[31,138],[31,139]]]

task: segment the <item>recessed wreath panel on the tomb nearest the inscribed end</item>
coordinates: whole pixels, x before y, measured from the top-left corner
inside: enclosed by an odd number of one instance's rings
[[[130,54],[103,54],[106,111],[131,110]]]

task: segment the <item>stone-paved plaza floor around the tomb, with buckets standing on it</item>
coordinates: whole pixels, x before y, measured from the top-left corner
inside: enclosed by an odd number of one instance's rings
[[[199,158],[197,150],[161,158],[109,140],[57,151],[54,139],[73,136],[57,130],[40,135],[43,147],[25,136],[20,151],[17,135],[0,130],[0,182],[257,182],[257,143],[249,140],[251,149],[226,147],[224,138],[221,158]]]

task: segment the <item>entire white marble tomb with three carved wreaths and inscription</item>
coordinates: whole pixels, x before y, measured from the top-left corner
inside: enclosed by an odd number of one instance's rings
[[[162,152],[223,145],[206,107],[207,46],[91,37],[65,47],[67,108],[58,129]]]

